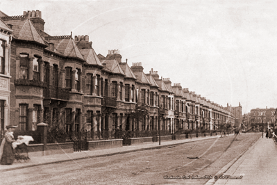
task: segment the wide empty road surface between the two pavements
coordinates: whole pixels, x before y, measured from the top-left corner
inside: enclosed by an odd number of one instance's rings
[[[1,184],[205,184],[208,179],[165,177],[213,176],[258,138],[260,134],[242,134],[13,170],[1,174]]]

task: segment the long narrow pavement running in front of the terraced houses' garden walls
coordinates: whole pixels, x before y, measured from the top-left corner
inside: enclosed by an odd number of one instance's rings
[[[232,136],[234,134],[230,134]],[[226,135],[228,136],[228,135]],[[112,156],[115,154],[125,154],[129,152],[137,152],[143,150],[153,150],[162,147],[169,147],[172,145],[181,145],[183,143],[190,143],[197,140],[206,140],[212,138],[219,138],[220,135],[217,136],[206,136],[206,137],[199,137],[199,138],[187,138],[183,140],[161,140],[160,145],[158,142],[155,143],[143,143],[140,145],[130,145],[130,146],[123,146],[123,147],[114,147],[108,149],[100,149],[100,150],[89,150],[89,151],[82,151],[82,152],[74,152],[74,153],[64,153],[64,154],[54,154],[54,155],[46,155],[46,156],[36,156],[32,157],[28,162],[18,162],[15,161],[12,165],[0,165],[0,172],[10,171],[10,170],[17,170],[22,168],[30,168],[33,166],[41,166],[50,163],[60,163],[65,161],[75,161],[78,159],[87,159],[87,158],[94,158],[94,157],[101,157],[101,156]],[[225,137],[225,136],[224,136]]]

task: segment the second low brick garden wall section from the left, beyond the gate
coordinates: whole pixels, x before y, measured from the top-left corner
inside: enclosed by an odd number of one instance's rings
[[[97,150],[111,147],[122,147],[123,139],[92,140],[88,142],[88,150]]]

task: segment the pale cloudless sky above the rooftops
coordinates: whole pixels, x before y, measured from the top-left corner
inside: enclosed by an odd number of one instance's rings
[[[119,49],[172,86],[212,102],[277,105],[277,1],[0,1],[7,15],[40,10],[50,35],[89,35],[96,54]]]

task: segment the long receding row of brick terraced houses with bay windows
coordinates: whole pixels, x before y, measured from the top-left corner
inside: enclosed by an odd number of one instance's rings
[[[118,50],[96,55],[88,35],[49,35],[39,10],[0,15],[1,131],[8,119],[22,131],[59,123],[97,140],[118,130],[170,135],[234,124],[231,111],[157,71],[145,74],[142,63],[130,67]],[[136,111],[146,114],[137,121]]]

